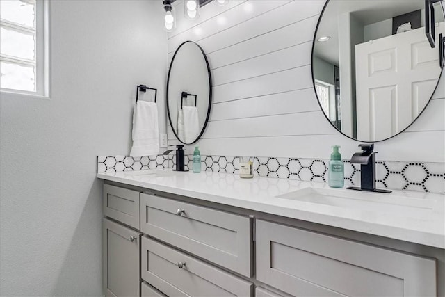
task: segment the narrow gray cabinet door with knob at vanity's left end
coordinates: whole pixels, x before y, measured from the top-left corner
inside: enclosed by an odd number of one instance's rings
[[[105,296],[140,296],[140,233],[102,219]]]

